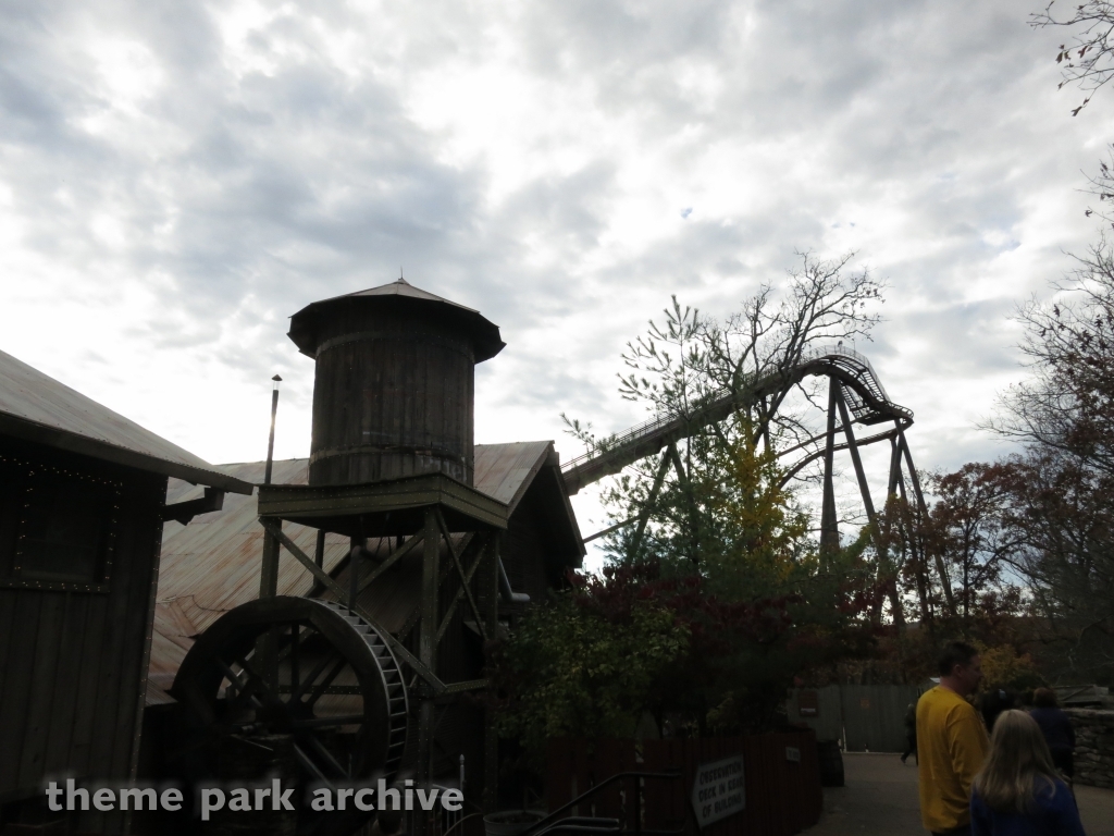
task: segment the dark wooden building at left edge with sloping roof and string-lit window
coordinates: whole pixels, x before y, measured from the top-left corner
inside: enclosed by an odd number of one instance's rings
[[[163,524],[225,492],[252,486],[0,352],[0,826],[51,777],[134,778]]]

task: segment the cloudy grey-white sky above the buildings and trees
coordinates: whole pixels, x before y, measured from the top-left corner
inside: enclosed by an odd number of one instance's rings
[[[0,0],[0,350],[213,463],[265,456],[277,372],[305,456],[287,318],[402,270],[502,330],[477,441],[568,458],[561,412],[647,417],[616,373],[672,294],[725,317],[854,251],[918,465],[993,458],[1114,127],[1039,6]]]

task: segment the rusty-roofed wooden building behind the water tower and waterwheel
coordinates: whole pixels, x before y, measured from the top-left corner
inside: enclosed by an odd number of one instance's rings
[[[544,601],[550,590],[561,586],[569,568],[580,566],[585,553],[553,443],[476,445],[471,461],[476,488],[508,507],[500,553],[510,586],[532,602]],[[261,482],[264,467],[265,463],[255,461],[225,465],[223,469],[246,482]],[[309,476],[309,459],[274,463],[275,484],[305,485]],[[170,480],[173,502],[188,502],[199,494],[201,489],[193,485]],[[314,528],[287,524],[284,531],[303,551],[314,552]],[[169,691],[178,667],[197,635],[225,613],[258,596],[263,536],[255,500],[246,496],[228,496],[221,511],[199,515],[188,525],[167,523],[147,689],[147,725],[152,733],[144,737],[141,776],[163,778],[174,774],[175,765],[167,759],[173,750],[168,741],[175,723]],[[388,551],[388,544],[382,548]],[[326,535],[322,563],[342,586],[346,583],[349,551],[348,537]],[[277,591],[280,595],[321,594],[312,576],[285,554],[280,562]],[[414,649],[421,609],[420,553],[402,560],[368,586],[360,603],[379,626]],[[504,602],[500,619],[507,622],[525,606]],[[475,624],[460,614],[455,629],[446,632],[438,670],[447,681],[461,681],[480,678],[482,664],[482,643]],[[438,711],[434,774],[455,778],[463,755],[468,775],[465,790],[478,803],[485,775],[483,713],[466,699],[446,700]]]

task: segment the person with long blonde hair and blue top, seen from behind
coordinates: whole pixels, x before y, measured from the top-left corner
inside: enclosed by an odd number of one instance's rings
[[[971,788],[971,836],[1086,836],[1040,727],[1024,711],[1004,711],[994,723]]]

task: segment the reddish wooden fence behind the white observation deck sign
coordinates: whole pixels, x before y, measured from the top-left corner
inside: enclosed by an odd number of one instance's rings
[[[795,751],[794,751],[795,750]],[[793,759],[800,754],[800,760]],[[692,788],[700,764],[742,754],[746,806],[742,813],[698,830]],[[612,785],[569,815],[619,819],[623,830],[683,830],[686,836],[792,836],[820,818],[823,796],[811,729],[754,737],[673,740],[550,740],[547,801],[557,809],[623,771],[680,770],[680,780],[643,779],[641,805],[633,779]],[[634,820],[641,806],[642,823]]]

